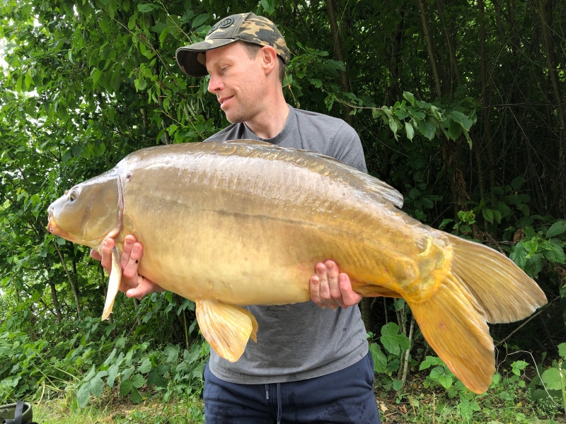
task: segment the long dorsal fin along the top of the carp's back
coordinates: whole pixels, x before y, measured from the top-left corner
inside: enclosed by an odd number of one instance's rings
[[[207,142],[202,144],[208,143],[214,143],[215,146],[219,146],[220,148],[222,144],[224,144],[225,147],[226,144],[229,144],[231,146],[241,146],[241,148],[233,148],[233,151],[232,149],[230,149],[229,154],[242,156],[251,155],[252,152],[250,152],[250,150],[256,150],[257,148],[262,148],[266,152],[279,152],[281,153],[281,159],[284,159],[287,162],[293,162],[296,165],[306,167],[313,172],[318,172],[323,175],[337,174],[338,169],[341,171],[340,173],[342,174],[342,180],[344,180],[344,182],[346,182],[347,184],[362,189],[369,194],[373,194],[374,196],[378,196],[379,198],[388,201],[398,208],[403,207],[403,194],[400,194],[400,192],[395,190],[389,184],[381,181],[380,179],[377,179],[376,177],[372,177],[371,175],[357,170],[354,167],[345,165],[341,163],[340,160],[331,158],[327,155],[298,148],[277,146],[272,143],[266,143],[265,141],[258,140],[230,140],[220,143]],[[214,147],[212,148],[214,149]],[[323,162],[320,162],[320,159],[322,159]],[[328,162],[324,163],[325,161]]]

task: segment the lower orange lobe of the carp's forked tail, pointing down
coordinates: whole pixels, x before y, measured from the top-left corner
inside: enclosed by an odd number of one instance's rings
[[[475,393],[490,387],[495,355],[482,307],[449,273],[427,300],[409,303],[422,335],[454,375]]]

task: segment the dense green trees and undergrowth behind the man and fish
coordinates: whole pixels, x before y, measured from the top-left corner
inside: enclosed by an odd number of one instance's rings
[[[492,326],[497,374],[475,396],[403,300],[364,299],[384,421],[560,418],[564,1],[1,0],[0,11],[2,403],[33,400],[45,422],[74,422],[69,411],[91,422],[202,420],[209,346],[193,303],[119,295],[100,322],[107,277],[88,249],[47,232],[46,210],[127,153],[227,126],[207,78],[185,76],[175,49],[255,11],[291,49],[289,104],[345,119],[407,213],[509,254],[549,300],[524,322]]]

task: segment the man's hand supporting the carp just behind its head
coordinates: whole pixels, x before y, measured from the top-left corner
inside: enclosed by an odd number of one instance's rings
[[[110,275],[112,270],[112,249],[114,248],[114,240],[108,238],[104,240],[102,247],[102,257],[91,249],[91,257],[97,261],[101,261],[106,273]],[[120,266],[122,267],[122,281],[120,281],[120,291],[126,293],[128,298],[141,299],[148,293],[165,291],[153,281],[140,276],[137,273],[139,259],[144,253],[144,247],[136,242],[136,237],[127,235],[124,240],[124,251],[120,258]]]

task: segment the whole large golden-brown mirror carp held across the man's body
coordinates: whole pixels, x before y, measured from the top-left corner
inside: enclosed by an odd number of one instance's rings
[[[204,338],[231,361],[258,330],[240,306],[306,302],[314,266],[334,259],[360,295],[404,298],[429,345],[481,393],[495,372],[487,322],[527,317],[545,295],[503,254],[402,206],[388,184],[317,153],[187,143],[142,149],[77,184],[50,206],[48,228],[98,252],[114,238],[103,319],[124,237],[135,235],[139,274],[194,300]]]

